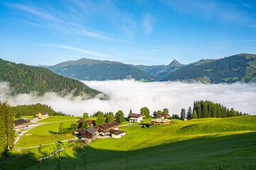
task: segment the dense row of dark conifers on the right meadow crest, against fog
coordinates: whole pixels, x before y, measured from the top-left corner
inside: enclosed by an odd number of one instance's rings
[[[183,118],[228,118],[233,116],[246,115],[245,113],[235,111],[234,108],[226,108],[220,103],[212,101],[194,101],[193,112],[191,107],[186,113],[185,108],[181,109],[181,119]],[[248,115],[248,114],[247,114]]]

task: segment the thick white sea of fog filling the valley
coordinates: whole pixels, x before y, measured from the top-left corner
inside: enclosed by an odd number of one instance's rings
[[[209,100],[222,103],[228,108],[235,108],[242,113],[256,114],[256,84],[184,84],[181,82],[148,82],[134,80],[114,81],[82,81],[92,89],[107,94],[109,100],[102,101],[92,98],[86,101],[68,97],[60,98],[54,93],[36,97],[33,94],[20,94],[11,97],[9,85],[0,83],[0,100],[8,100],[11,106],[21,104],[46,103],[55,111],[70,115],[95,113],[97,111],[116,113],[122,110],[125,115],[132,109],[139,113],[140,108],[148,107],[151,114],[154,111],[168,108],[169,113],[179,114],[181,108],[193,107],[193,101]]]

